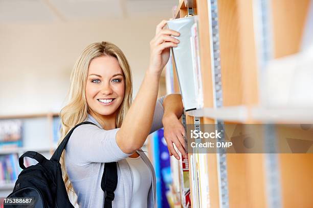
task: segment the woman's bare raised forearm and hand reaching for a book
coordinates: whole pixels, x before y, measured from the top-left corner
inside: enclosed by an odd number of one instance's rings
[[[125,153],[132,153],[144,144],[152,124],[162,69],[168,62],[170,47],[176,47],[178,32],[163,29],[166,21],[157,26],[150,42],[150,65],[139,92],[116,135],[116,142]]]

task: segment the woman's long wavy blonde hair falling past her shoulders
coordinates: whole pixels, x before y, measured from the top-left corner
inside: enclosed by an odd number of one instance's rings
[[[58,144],[63,140],[65,135],[74,127],[76,124],[83,122],[90,111],[87,106],[87,101],[85,97],[85,86],[88,74],[88,67],[94,58],[101,56],[115,57],[120,67],[124,73],[125,79],[125,93],[124,99],[121,106],[118,108],[116,117],[116,126],[120,127],[123,122],[123,118],[126,115],[132,101],[132,81],[131,81],[131,71],[129,64],[126,60],[125,55],[122,50],[109,42],[97,42],[88,45],[78,60],[76,61],[72,74],[70,90],[68,94],[68,105],[62,108],[60,112],[61,118],[61,137]],[[64,150],[65,151],[65,150]],[[63,180],[65,183],[66,190],[68,194],[74,193],[73,186],[69,180],[69,175],[65,169],[65,155],[64,151],[62,153],[60,164],[63,173]],[[76,202],[75,202],[76,203]]]

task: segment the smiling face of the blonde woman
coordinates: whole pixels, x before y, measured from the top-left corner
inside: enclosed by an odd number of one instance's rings
[[[92,113],[116,116],[124,99],[125,80],[114,57],[94,58],[88,68],[86,100]]]

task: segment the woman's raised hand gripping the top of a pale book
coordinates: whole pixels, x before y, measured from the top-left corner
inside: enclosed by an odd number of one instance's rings
[[[166,20],[157,25],[155,37],[150,41],[150,65],[149,70],[153,73],[161,74],[162,69],[168,62],[170,47],[176,47],[180,42],[172,36],[180,36],[180,33],[164,29]]]

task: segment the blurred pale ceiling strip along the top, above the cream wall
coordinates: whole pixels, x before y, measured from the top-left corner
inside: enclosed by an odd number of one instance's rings
[[[171,17],[178,0],[0,0],[0,23]]]

